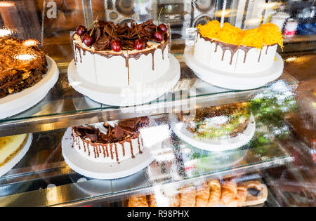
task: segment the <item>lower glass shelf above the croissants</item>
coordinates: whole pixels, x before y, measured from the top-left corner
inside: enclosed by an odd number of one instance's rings
[[[205,179],[254,173],[293,161],[265,126],[257,126],[254,138],[239,149],[206,152],[173,134],[169,115],[160,114],[152,119],[168,130],[162,147],[155,149],[159,154],[147,168],[117,180],[86,178],[67,166],[60,147],[65,129],[34,133],[29,152],[0,178],[0,206],[80,206],[115,201],[157,188],[198,185]],[[288,134],[287,138],[290,137]],[[265,142],[258,142],[262,138]]]

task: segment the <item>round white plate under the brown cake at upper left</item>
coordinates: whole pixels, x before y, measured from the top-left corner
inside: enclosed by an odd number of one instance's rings
[[[30,88],[0,99],[0,119],[24,112],[40,102],[58,80],[59,70],[55,61],[46,55],[48,71],[43,79]]]

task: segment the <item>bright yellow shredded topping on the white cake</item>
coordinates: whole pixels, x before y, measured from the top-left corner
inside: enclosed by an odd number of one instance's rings
[[[227,22],[224,23],[223,27],[220,27],[220,22],[213,20],[206,23],[206,25],[198,25],[197,29],[204,38],[225,43],[254,48],[263,48],[263,46],[277,43],[283,48],[282,33],[279,27],[272,23],[260,25],[255,29],[242,30]]]

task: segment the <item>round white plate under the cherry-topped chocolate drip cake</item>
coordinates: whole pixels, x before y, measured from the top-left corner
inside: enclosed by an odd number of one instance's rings
[[[179,79],[180,63],[173,55],[170,55],[168,71],[159,79],[146,85],[125,88],[100,86],[86,81],[79,76],[74,60],[68,67],[68,80],[74,90],[88,96],[91,100],[113,106],[141,105],[155,100],[173,88]]]

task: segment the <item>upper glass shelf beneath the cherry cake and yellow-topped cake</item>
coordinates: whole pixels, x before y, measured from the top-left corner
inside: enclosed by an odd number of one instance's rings
[[[149,114],[163,114],[177,109],[190,109],[230,102],[249,100],[260,91],[271,88],[276,83],[295,88],[298,81],[284,72],[282,76],[261,88],[248,91],[233,91],[211,86],[198,79],[192,69],[183,62],[183,55],[176,54],[180,60],[181,77],[176,86],[161,98],[150,103],[133,107],[113,107],[102,105],[77,93],[69,85],[67,65],[60,63],[60,77],[56,85],[37,105],[25,112],[0,120],[0,136],[17,133],[35,133],[67,128],[99,121],[127,119]]]

